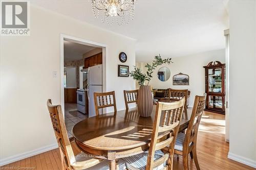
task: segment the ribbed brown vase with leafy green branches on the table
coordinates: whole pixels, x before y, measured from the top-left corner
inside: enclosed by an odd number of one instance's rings
[[[145,67],[147,68],[146,74],[143,73],[142,70],[136,66],[134,66],[134,70],[130,72],[131,77],[134,80],[137,80],[140,85],[137,102],[140,116],[148,117],[151,116],[152,113],[153,98],[151,86],[149,86],[148,83],[150,83],[150,80],[153,77],[153,71],[156,69],[157,66],[165,63],[170,64],[171,62],[171,58],[162,59],[159,54],[159,56],[155,56],[152,64],[147,63],[145,65]]]

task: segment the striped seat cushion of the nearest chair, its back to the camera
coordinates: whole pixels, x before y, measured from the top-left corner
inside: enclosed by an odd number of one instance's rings
[[[134,155],[134,156],[130,156],[130,157],[126,157],[126,158],[122,158],[125,162],[125,166],[127,169],[145,169],[146,168],[146,163],[147,163],[147,156],[148,156],[148,151],[145,151],[141,154],[138,154],[138,155]],[[158,150],[155,152],[155,156],[154,156],[154,160],[157,160],[161,157],[164,156],[164,153],[161,151],[161,150]],[[153,170],[160,170],[160,169],[163,169],[163,167],[166,165],[166,161],[153,168]]]

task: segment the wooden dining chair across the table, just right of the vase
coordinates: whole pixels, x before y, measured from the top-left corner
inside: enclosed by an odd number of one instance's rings
[[[185,99],[185,105],[184,105],[184,117],[187,119],[187,95],[188,90],[178,90],[178,89],[169,89],[169,102],[172,101],[179,101],[182,98]]]

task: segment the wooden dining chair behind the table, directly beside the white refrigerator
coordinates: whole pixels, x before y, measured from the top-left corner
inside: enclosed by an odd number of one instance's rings
[[[105,107],[114,107],[116,112],[116,98],[115,91],[103,92],[103,93],[94,93],[94,106],[96,116],[99,115],[99,109]]]

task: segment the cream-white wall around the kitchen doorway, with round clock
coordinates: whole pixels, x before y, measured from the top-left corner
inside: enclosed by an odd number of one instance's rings
[[[31,6],[30,36],[1,37],[0,159],[8,163],[56,147],[47,99],[60,104],[60,34],[106,44],[106,90],[116,91],[117,109],[124,109],[124,89],[132,78],[117,77],[118,55],[135,65],[135,40]],[[53,78],[57,71],[57,78]]]

